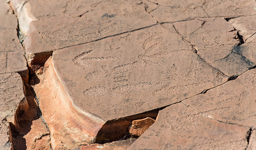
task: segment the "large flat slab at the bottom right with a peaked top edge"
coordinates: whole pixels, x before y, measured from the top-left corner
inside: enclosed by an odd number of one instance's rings
[[[249,128],[220,123],[188,108],[171,105],[129,150],[140,149],[245,149]]]

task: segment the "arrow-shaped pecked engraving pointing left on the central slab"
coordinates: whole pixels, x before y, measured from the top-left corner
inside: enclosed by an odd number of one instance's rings
[[[81,66],[83,68],[90,68],[91,66],[86,63],[86,61],[105,61],[105,60],[114,60],[117,59],[117,56],[107,56],[107,57],[85,57],[85,55],[91,53],[92,50],[83,52],[77,56],[75,56],[72,61],[75,63],[77,66]]]

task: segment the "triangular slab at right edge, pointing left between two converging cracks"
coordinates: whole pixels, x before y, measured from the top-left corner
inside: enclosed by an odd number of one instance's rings
[[[251,69],[236,80],[184,100],[183,103],[210,118],[255,129],[255,87],[256,70]]]

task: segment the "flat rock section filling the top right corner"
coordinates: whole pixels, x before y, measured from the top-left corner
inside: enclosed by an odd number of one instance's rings
[[[238,17],[243,15],[255,15],[255,0],[214,0],[207,1],[203,9],[209,17]]]

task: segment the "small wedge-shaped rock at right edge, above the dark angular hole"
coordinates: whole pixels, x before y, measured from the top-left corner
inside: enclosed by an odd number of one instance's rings
[[[234,18],[230,19],[228,22],[239,31],[244,41],[256,33],[256,16]]]

